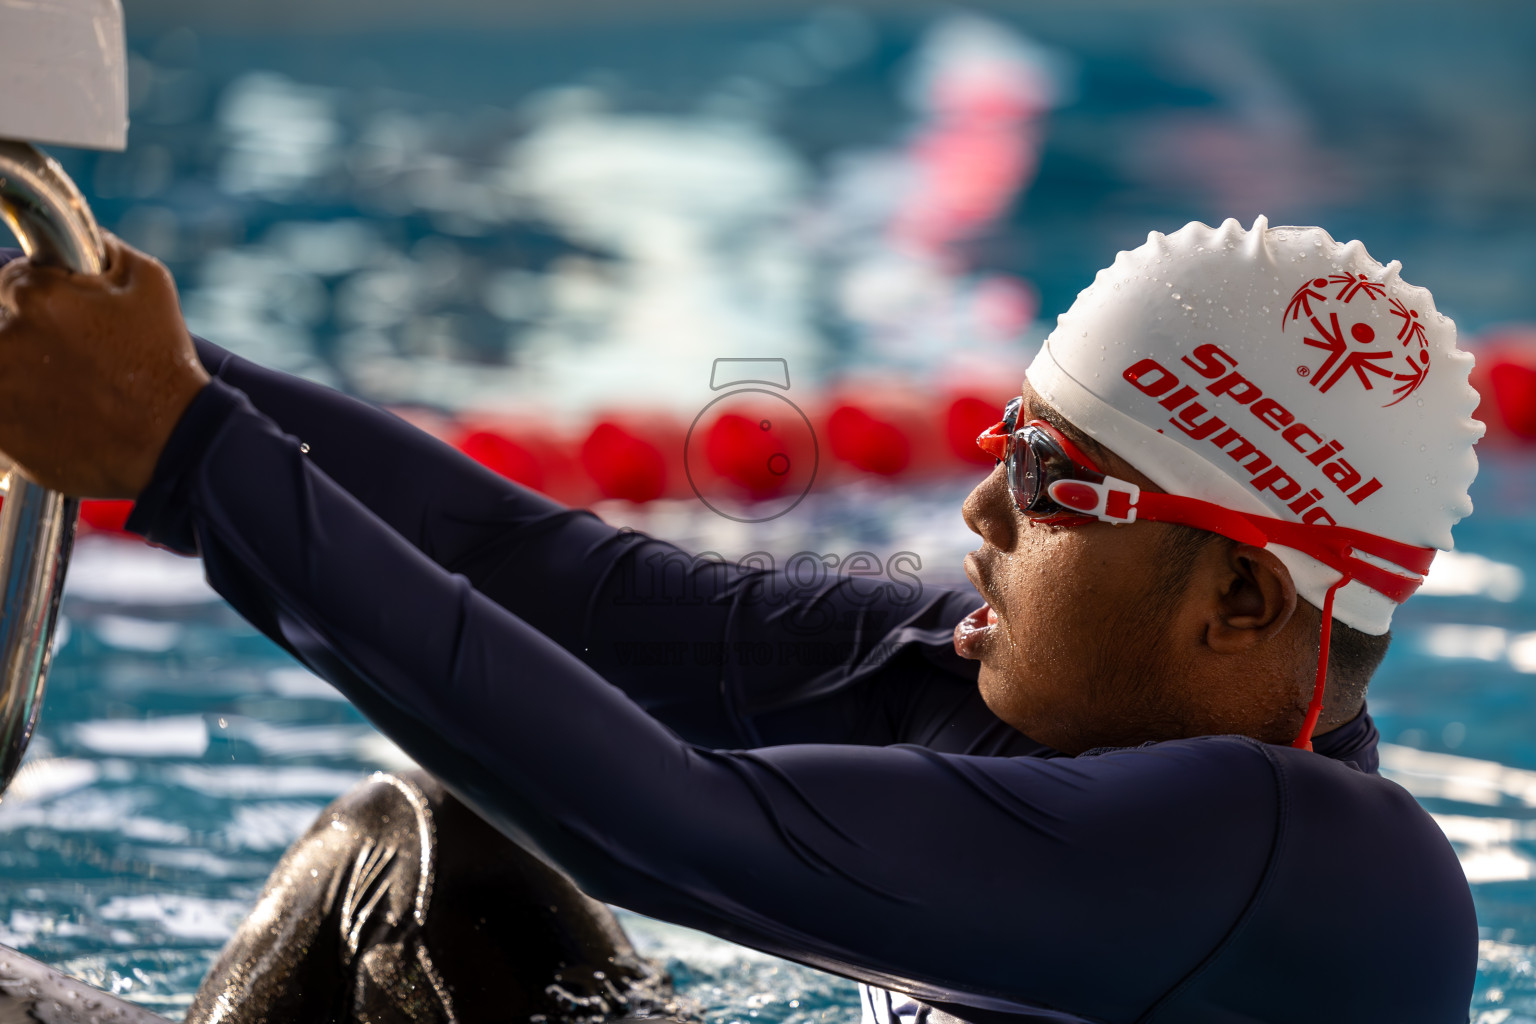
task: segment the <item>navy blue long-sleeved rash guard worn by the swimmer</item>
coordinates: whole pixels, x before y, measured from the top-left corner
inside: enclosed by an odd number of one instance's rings
[[[1467,1019],[1467,881],[1367,715],[1061,757],[954,654],[974,594],[696,562],[198,345],[129,527],[594,897],[931,1018]]]

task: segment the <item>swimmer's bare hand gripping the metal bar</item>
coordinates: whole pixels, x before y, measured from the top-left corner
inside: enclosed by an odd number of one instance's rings
[[[0,267],[0,451],[55,491],[138,497],[209,376],[170,273],[104,238],[100,276]]]

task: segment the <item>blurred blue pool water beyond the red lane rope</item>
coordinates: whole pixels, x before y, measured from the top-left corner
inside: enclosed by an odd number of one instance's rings
[[[691,418],[719,356],[783,356],[797,387],[995,370],[1114,252],[1197,218],[1362,238],[1464,336],[1536,319],[1536,12],[1369,0],[1298,43],[1307,23],[178,28],[132,41],[127,152],[58,155],[194,330],[442,410],[578,415],[644,381]],[[1017,109],[945,106],[978,66]]]

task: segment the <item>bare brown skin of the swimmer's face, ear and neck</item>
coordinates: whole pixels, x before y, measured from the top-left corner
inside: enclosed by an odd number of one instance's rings
[[[1018,419],[1081,436],[1028,382]],[[1112,476],[1163,490],[1101,447],[1089,454]],[[1031,522],[1001,465],[963,516],[982,539],[966,576],[988,605],[955,628],[955,651],[982,662],[982,697],[1000,718],[1069,754],[1190,735],[1295,737],[1319,614],[1273,554],[1221,539],[1180,594],[1161,596],[1174,527]],[[1352,715],[1326,705],[1318,734]]]

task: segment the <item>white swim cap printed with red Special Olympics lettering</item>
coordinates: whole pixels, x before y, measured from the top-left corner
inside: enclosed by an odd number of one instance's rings
[[[1252,230],[1152,232],[1077,296],[1026,376],[1170,494],[1448,550],[1484,430],[1471,355],[1399,270],[1263,216]],[[1321,608],[1342,574],[1270,550]],[[1333,600],[1335,619],[1369,634],[1395,608],[1353,579]]]

